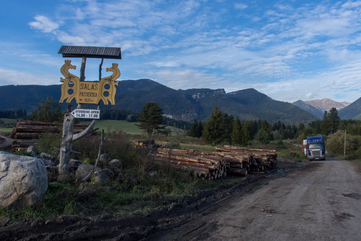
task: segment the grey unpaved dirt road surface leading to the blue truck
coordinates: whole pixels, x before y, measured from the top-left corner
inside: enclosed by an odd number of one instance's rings
[[[266,178],[218,210],[147,240],[361,240],[360,227],[361,173],[327,158]]]

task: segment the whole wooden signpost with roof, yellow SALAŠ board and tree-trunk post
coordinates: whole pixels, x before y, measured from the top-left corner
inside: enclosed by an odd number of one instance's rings
[[[66,100],[66,103],[70,103],[75,99],[78,104],[78,107],[74,110],[70,110],[69,105],[68,113],[66,113],[64,117],[58,170],[59,174],[66,174],[70,168],[70,154],[74,152],[71,149],[73,141],[95,131],[93,127],[100,116],[100,101],[103,101],[105,105],[108,105],[109,102],[111,105],[115,104],[114,97],[116,94],[116,86],[118,86],[116,79],[119,78],[120,71],[118,64],[113,63],[112,67],[106,68],[107,72],[111,71],[113,74],[101,78],[103,59],[121,60],[122,57],[120,48],[110,47],[61,46],[58,53],[62,54],[64,58],[82,58],[79,77],[69,72],[69,69],[76,69],[75,65],[71,65],[71,60],[65,60],[64,65],[60,69],[61,74],[64,75],[65,78],[60,78],[60,82],[63,83],[61,85],[61,98],[59,102],[62,103]],[[85,64],[87,58],[101,58],[99,65],[99,82],[85,81]],[[83,104],[97,104],[97,109],[82,109]],[[90,118],[93,119],[93,121],[86,130],[74,135],[73,126],[75,118]],[[103,138],[102,143],[104,143]],[[99,152],[101,152],[101,148]]]

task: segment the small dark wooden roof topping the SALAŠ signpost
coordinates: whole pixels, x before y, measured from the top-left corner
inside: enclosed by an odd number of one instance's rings
[[[112,47],[86,47],[86,46],[61,46],[58,53],[64,58],[114,58],[122,59],[120,48]]]

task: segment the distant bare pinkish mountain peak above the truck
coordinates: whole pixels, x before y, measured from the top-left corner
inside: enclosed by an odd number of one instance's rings
[[[328,98],[323,98],[322,100],[297,100],[295,102],[292,102],[292,104],[322,119],[325,110],[329,111],[331,108],[341,110],[346,106],[350,105],[351,102],[337,102]]]

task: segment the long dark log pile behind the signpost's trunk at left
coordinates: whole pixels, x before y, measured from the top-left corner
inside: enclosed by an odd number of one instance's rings
[[[79,133],[85,130],[88,124],[74,124],[73,133]],[[60,133],[62,124],[57,125],[48,122],[19,120],[13,127],[11,138],[16,139],[13,142],[13,148],[27,148],[36,144],[36,139],[44,133]],[[34,140],[35,139],[35,140]]]

